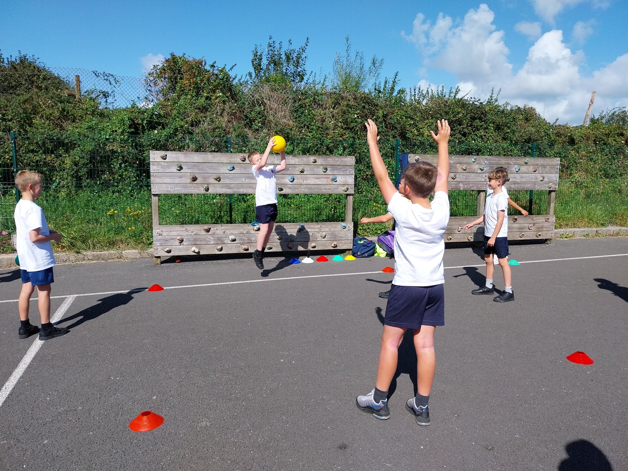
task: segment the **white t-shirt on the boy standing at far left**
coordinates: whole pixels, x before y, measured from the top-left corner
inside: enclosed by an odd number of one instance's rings
[[[26,271],[40,271],[50,268],[55,263],[52,244],[48,242],[31,242],[29,233],[41,227],[41,236],[50,236],[50,229],[43,210],[36,203],[21,199],[13,212],[15,219],[16,242],[18,249],[19,268]]]

